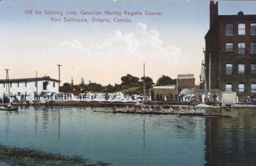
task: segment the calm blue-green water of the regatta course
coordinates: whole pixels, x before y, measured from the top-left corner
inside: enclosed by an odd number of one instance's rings
[[[19,107],[0,112],[0,144],[113,165],[250,165],[256,110],[204,110],[236,117],[97,113],[108,107]]]

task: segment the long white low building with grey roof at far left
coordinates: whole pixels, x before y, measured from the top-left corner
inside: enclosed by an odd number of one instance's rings
[[[51,79],[51,77],[38,77],[29,79],[0,79],[0,95],[8,94],[8,84],[10,87],[10,94],[26,93],[34,97],[36,93],[36,82],[38,86],[38,94],[42,92],[59,93],[59,80]]]

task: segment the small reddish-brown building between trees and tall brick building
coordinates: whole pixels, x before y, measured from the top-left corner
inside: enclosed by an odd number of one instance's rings
[[[195,91],[194,74],[178,74],[178,79],[177,79],[178,93],[180,93],[182,89],[188,89],[190,92]]]

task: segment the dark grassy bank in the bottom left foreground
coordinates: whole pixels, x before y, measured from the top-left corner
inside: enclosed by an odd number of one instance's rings
[[[109,163],[90,163],[81,157],[45,153],[36,149],[8,147],[0,145],[0,162],[9,165],[109,165]]]

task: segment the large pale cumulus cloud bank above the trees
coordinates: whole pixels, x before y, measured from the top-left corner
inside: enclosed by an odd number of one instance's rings
[[[120,83],[120,77],[127,73],[141,77],[143,63],[154,81],[163,74],[176,76],[175,70],[180,68],[177,61],[185,61],[177,45],[164,46],[159,32],[146,24],[134,25],[129,33],[114,29],[106,35],[106,40],[94,40],[86,45],[77,40],[63,41],[54,54],[58,52],[63,61],[70,59],[67,68],[73,71],[69,73],[72,77],[76,77],[76,72],[78,80],[84,77],[102,84]],[[81,71],[86,71],[86,75]]]

